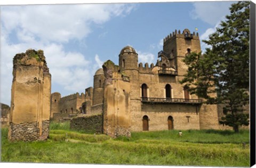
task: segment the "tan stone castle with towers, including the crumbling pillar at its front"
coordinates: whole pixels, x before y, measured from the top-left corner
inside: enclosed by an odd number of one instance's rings
[[[143,66],[133,47],[126,46],[119,54],[118,66],[105,62],[85,93],[63,98],[52,93],[51,117],[103,114],[103,132],[107,134],[220,129],[218,106],[203,104],[179,82],[188,69],[182,60],[190,52],[201,51],[198,33],[175,30],[163,43],[155,65]]]

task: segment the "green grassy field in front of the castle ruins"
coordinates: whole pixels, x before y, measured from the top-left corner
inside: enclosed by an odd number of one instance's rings
[[[53,123],[47,141],[9,142],[2,129],[1,162],[250,166],[249,131],[132,132],[131,138],[69,130]],[[243,145],[243,142],[245,145]]]

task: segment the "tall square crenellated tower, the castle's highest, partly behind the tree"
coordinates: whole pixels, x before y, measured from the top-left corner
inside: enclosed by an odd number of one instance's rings
[[[175,30],[172,34],[164,38],[163,51],[174,58],[172,64],[178,71],[179,76],[186,74],[187,66],[182,61],[190,52],[200,52],[200,40],[198,33],[190,33],[189,29],[184,29],[183,32]]]

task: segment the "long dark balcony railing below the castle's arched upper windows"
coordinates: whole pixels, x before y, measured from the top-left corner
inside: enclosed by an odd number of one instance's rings
[[[201,104],[202,99],[175,99],[175,98],[141,98],[145,103],[189,103],[189,104]]]

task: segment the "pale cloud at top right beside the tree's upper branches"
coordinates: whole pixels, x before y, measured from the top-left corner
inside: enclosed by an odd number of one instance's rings
[[[190,12],[193,19],[201,19],[210,25],[215,25],[220,18],[229,14],[229,7],[234,2],[194,2],[194,9]]]

